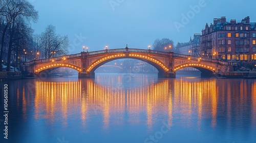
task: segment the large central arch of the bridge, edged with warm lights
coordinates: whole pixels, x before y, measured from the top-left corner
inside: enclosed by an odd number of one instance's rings
[[[116,55],[111,55],[111,56],[105,56],[103,58],[96,60],[92,64],[90,64],[88,66],[88,68],[86,69],[86,71],[87,71],[87,73],[94,73],[94,71],[101,65],[111,62],[113,60],[117,60],[117,59],[137,59],[137,60],[145,61],[148,64],[153,65],[154,67],[157,68],[159,73],[167,73],[169,71],[168,67],[164,63],[159,61],[158,59],[150,57],[150,56],[140,55],[140,54],[129,54],[129,55],[116,54]]]

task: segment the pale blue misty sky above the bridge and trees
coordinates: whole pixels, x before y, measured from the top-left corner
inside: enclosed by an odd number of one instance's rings
[[[254,0],[29,1],[39,12],[39,20],[32,24],[35,33],[55,26],[58,34],[69,36],[71,54],[80,53],[82,45],[97,51],[105,45],[124,48],[126,43],[131,48],[147,49],[157,38],[169,38],[175,44],[187,42],[194,33],[201,33],[206,22],[221,16],[228,21],[250,16],[256,21]],[[188,15],[188,20],[182,21],[182,15]]]

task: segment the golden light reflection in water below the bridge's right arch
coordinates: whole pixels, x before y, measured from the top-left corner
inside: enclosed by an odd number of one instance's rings
[[[200,129],[203,113],[209,114],[208,111],[211,111],[211,125],[215,127],[218,101],[217,92],[215,79],[205,81],[176,79],[174,83],[173,114],[182,116],[181,122],[184,126],[193,125],[191,122],[193,122],[194,116],[197,115],[197,124]]]

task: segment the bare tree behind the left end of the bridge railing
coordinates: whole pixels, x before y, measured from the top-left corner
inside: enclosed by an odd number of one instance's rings
[[[56,28],[49,25],[40,36],[40,46],[44,58],[66,55],[68,54],[69,38],[67,35],[57,35]]]

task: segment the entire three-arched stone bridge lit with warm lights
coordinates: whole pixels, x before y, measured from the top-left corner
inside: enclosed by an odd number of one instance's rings
[[[69,67],[79,72],[79,78],[93,78],[94,71],[105,63],[116,59],[131,58],[145,61],[158,69],[158,76],[164,78],[175,77],[175,72],[184,67],[194,67],[201,71],[202,77],[211,77],[215,74],[224,74],[234,71],[237,63],[224,62],[216,59],[195,57],[143,49],[111,49],[95,52],[81,52],[79,54],[54,57],[44,60],[34,60],[21,63],[23,70],[40,75],[48,75],[58,67]]]

